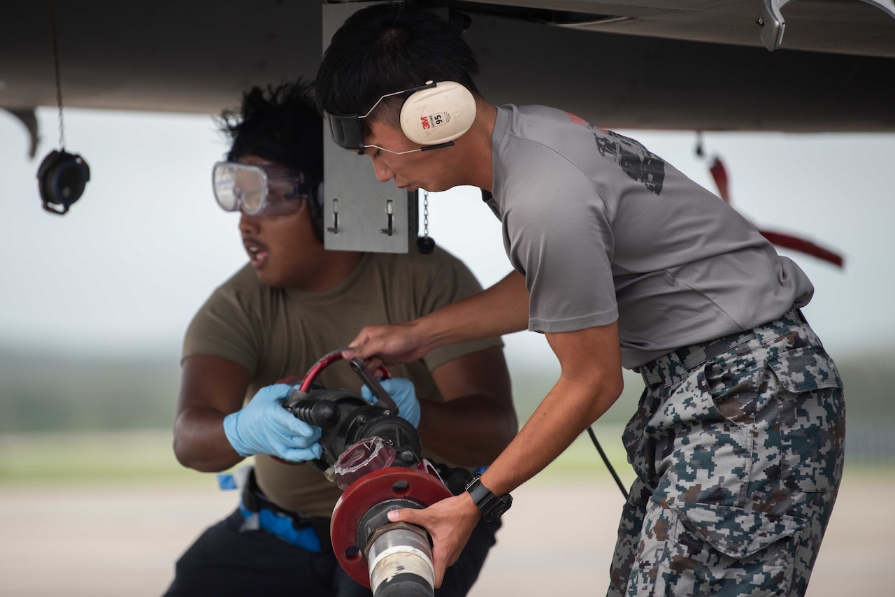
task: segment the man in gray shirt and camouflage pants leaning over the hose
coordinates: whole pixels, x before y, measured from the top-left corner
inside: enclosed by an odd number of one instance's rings
[[[412,59],[411,59],[412,58]],[[723,201],[640,143],[549,107],[491,106],[472,50],[403,4],[332,38],[317,98],[333,139],[399,188],[482,189],[516,272],[398,326],[367,359],[528,328],[562,375],[468,493],[391,513],[434,543],[437,582],[480,516],[644,376],[624,442],[637,478],[609,595],[802,595],[839,488],[842,382],[800,307],[814,287]]]

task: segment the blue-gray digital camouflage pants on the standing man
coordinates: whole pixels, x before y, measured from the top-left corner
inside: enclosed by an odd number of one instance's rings
[[[608,595],[804,595],[842,478],[845,405],[801,313],[641,372]]]

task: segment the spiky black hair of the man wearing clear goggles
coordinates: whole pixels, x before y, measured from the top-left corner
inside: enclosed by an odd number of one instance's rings
[[[256,156],[323,181],[323,121],[314,106],[311,83],[299,79],[252,87],[239,110],[224,110],[217,127],[231,141],[228,161]]]

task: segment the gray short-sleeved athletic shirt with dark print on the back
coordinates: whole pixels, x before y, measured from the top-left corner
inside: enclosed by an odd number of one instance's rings
[[[491,209],[529,329],[618,320],[633,369],[774,320],[814,286],[754,226],[643,145],[543,106],[499,107]]]

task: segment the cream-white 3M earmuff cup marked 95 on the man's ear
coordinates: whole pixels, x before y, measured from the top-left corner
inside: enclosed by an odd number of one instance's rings
[[[420,145],[454,141],[474,120],[473,94],[454,81],[440,81],[435,87],[416,91],[401,108],[401,130]]]

